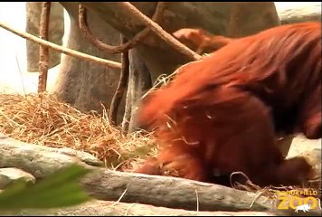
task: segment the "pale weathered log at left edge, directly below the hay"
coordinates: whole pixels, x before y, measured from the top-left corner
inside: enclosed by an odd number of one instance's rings
[[[94,156],[70,148],[53,148],[27,144],[0,133],[0,168],[16,167],[32,174],[36,179],[66,165],[79,164],[92,168],[101,162]]]

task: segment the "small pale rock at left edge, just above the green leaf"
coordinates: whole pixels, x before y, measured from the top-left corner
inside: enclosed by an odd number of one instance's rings
[[[4,189],[6,185],[12,184],[19,178],[24,178],[27,183],[34,184],[36,181],[33,175],[28,174],[21,169],[14,167],[0,168],[0,189]]]

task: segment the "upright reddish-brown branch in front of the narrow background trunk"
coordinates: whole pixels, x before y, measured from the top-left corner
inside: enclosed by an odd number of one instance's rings
[[[43,2],[41,20],[39,24],[39,37],[48,41],[49,20],[51,15],[51,2]],[[38,92],[46,90],[48,77],[49,48],[40,45],[39,48],[39,80]]]

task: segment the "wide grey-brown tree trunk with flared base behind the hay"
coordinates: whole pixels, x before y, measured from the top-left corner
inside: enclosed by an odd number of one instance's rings
[[[78,22],[78,5],[62,3],[71,17],[71,30],[67,46],[76,51],[85,52],[100,58],[120,62],[120,54],[99,51],[82,36]],[[97,14],[88,13],[90,31],[102,42],[118,45],[119,33],[105,23]],[[53,92],[59,99],[71,103],[82,111],[102,111],[100,102],[109,109],[110,101],[118,85],[120,71],[98,63],[82,61],[71,56],[62,59],[61,71]],[[118,121],[124,112],[124,99],[118,109]]]

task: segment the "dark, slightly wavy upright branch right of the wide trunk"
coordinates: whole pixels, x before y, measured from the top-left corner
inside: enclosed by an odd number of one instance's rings
[[[127,39],[123,35],[121,35],[121,43],[122,44],[127,43]],[[119,103],[128,85],[128,74],[129,74],[128,51],[122,52],[121,60],[122,60],[121,61],[122,70],[119,76],[118,88],[115,91],[115,94],[112,98],[112,101],[110,103],[110,108],[109,108],[109,120],[110,120],[110,123],[115,126],[117,125]]]

